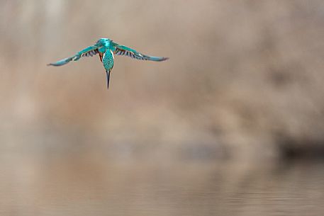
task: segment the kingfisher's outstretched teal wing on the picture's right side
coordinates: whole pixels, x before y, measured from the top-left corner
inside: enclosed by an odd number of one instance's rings
[[[130,47],[118,45],[116,43],[114,43],[114,45],[116,45],[116,50],[114,52],[115,55],[125,55],[133,59],[150,60],[155,62],[162,62],[169,59],[168,57],[155,57],[155,56],[144,55],[136,50],[133,50]]]

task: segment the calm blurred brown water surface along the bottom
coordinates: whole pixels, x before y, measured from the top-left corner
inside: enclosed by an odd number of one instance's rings
[[[321,215],[321,163],[2,152],[0,215]]]

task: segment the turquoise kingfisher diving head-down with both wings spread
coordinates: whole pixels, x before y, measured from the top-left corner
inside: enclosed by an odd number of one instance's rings
[[[71,61],[77,61],[81,57],[92,57],[97,54],[99,54],[100,61],[102,62],[102,64],[104,64],[104,69],[106,69],[107,89],[109,89],[109,79],[115,60],[114,55],[124,55],[133,59],[150,60],[155,62],[162,62],[169,59],[168,57],[154,57],[150,55],[144,55],[136,50],[133,50],[130,47],[118,45],[118,43],[113,42],[113,40],[110,40],[108,38],[101,38],[96,42],[96,44],[90,47],[86,47],[84,50],[77,52],[74,56],[67,57],[58,62],[50,63],[48,65],[61,66]]]

